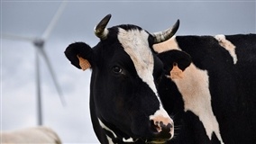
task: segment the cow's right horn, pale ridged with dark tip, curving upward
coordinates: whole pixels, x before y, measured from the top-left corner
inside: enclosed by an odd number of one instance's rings
[[[152,33],[154,44],[169,40],[178,31],[179,20],[169,29]]]

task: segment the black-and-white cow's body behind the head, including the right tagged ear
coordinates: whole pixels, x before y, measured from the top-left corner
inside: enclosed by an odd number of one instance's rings
[[[256,34],[173,36],[153,49],[177,127],[169,143],[256,143]]]

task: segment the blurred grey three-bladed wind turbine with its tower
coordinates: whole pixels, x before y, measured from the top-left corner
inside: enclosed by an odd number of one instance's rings
[[[2,38],[9,39],[9,40],[26,40],[29,42],[32,42],[32,44],[35,47],[35,74],[36,74],[36,87],[37,87],[37,111],[38,111],[38,125],[42,125],[42,108],[41,108],[41,78],[40,78],[40,55],[45,60],[47,67],[50,70],[50,76],[53,80],[53,83],[57,89],[57,92],[59,94],[59,99],[62,105],[65,105],[64,97],[61,93],[60,86],[57,82],[57,78],[53,72],[53,68],[50,64],[50,59],[48,58],[48,55],[46,54],[46,51],[44,49],[45,41],[49,39],[50,33],[53,30],[54,26],[59,20],[60,15],[63,13],[64,8],[67,4],[67,1],[63,1],[59,5],[59,9],[57,10],[56,14],[52,17],[49,25],[41,35],[41,37],[25,37],[25,36],[19,36],[19,35],[13,35],[13,34],[7,34],[2,33]]]

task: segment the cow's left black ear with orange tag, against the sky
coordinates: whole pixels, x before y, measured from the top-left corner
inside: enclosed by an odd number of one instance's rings
[[[84,42],[75,42],[65,50],[65,55],[72,65],[86,70],[93,63],[93,49]]]

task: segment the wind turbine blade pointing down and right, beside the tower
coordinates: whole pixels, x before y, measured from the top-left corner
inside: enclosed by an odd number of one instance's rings
[[[56,87],[56,89],[57,89],[57,92],[58,92],[58,94],[59,94],[60,102],[62,103],[63,106],[65,106],[65,105],[66,105],[66,102],[65,102],[65,99],[64,99],[63,94],[62,94],[62,92],[61,92],[60,86],[59,86],[59,84],[58,84],[58,82],[57,82],[57,78],[56,78],[56,76],[54,75],[53,68],[52,68],[51,65],[50,65],[50,59],[48,58],[48,56],[47,56],[45,50],[43,49],[43,47],[42,47],[42,48],[39,48],[39,49],[40,49],[40,52],[41,52],[42,57],[44,58],[44,60],[45,60],[45,62],[46,62],[47,67],[48,67],[49,70],[50,70],[50,76],[51,76],[51,78],[52,78],[52,80],[53,80],[53,83],[54,83],[54,85],[55,85],[55,87]]]

